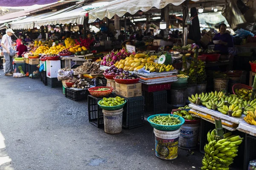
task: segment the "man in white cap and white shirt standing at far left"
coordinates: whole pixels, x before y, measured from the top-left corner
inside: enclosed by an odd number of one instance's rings
[[[12,29],[7,29],[6,34],[3,35],[1,46],[3,47],[3,56],[6,60],[6,69],[5,69],[5,76],[12,76],[13,74],[13,67],[12,67],[12,57],[10,57],[10,48],[12,46],[12,34],[14,32]]]

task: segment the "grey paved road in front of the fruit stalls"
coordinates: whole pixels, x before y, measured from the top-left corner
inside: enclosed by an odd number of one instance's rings
[[[109,135],[88,122],[87,102],[65,98],[40,79],[0,71],[0,170],[199,170],[203,155],[179,148],[155,156],[153,128]]]

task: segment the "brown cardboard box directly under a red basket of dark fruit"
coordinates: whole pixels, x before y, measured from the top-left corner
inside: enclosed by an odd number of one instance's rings
[[[141,82],[131,85],[124,85],[116,82],[116,95],[126,98],[142,96]]]

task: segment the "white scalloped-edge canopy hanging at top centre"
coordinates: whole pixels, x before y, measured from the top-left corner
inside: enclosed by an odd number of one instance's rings
[[[99,18],[99,20],[102,20],[104,17],[111,19],[115,14],[122,17],[126,12],[133,15],[137,11],[141,10],[145,12],[152,7],[162,9],[169,3],[178,6],[184,1],[185,0],[114,0],[106,6],[90,10],[88,23],[93,23],[97,18]],[[95,3],[97,3],[97,1]]]

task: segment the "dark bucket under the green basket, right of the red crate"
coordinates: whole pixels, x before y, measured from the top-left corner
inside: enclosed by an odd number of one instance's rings
[[[186,105],[186,88],[171,88],[171,105],[180,107]]]

